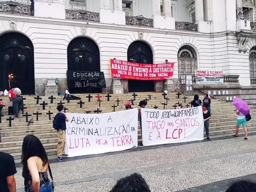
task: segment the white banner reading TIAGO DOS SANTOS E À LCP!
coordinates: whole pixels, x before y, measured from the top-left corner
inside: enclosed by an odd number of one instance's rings
[[[185,109],[141,109],[144,146],[204,139],[202,107]]]

